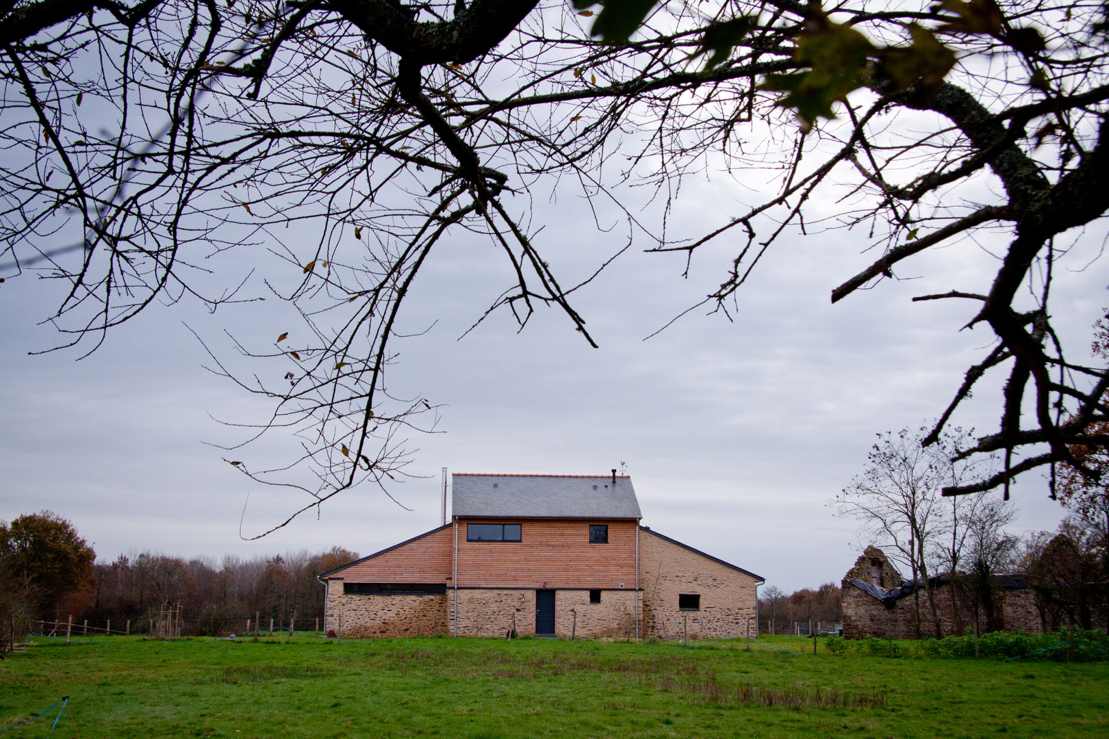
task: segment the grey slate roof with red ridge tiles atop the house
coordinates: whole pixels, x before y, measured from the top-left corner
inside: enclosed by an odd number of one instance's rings
[[[451,476],[456,516],[490,519],[641,519],[631,478],[475,474]]]

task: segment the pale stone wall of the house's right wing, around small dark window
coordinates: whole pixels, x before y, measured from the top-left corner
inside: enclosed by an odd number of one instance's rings
[[[652,531],[640,536],[640,585],[644,637],[680,639],[755,635],[759,579]],[[678,596],[700,596],[696,610],[679,608]]]

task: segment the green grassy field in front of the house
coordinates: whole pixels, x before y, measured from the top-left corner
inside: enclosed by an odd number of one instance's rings
[[[54,738],[1109,736],[1109,663],[814,657],[742,640],[93,640],[40,639],[0,661],[0,729],[64,695]],[[55,716],[2,739],[47,737]]]

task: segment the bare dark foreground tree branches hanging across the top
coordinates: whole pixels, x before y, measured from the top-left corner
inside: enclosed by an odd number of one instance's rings
[[[245,363],[213,348],[213,369],[272,400],[257,433],[298,444],[281,469],[228,463],[299,487],[307,510],[387,484],[405,434],[434,428],[433,404],[391,397],[386,374],[448,235],[486,237],[513,275],[477,320],[522,327],[550,306],[596,346],[571,305],[592,275],[556,276],[530,220],[551,192],[619,208],[625,186],[652,187],[660,217],[623,211],[622,248],[692,260],[733,239],[701,304],[728,316],[784,234],[866,234],[877,256],[837,301],[990,230],[1008,239],[995,275],[916,298],[964,301],[966,326],[995,336],[925,442],[1007,373],[997,432],[960,450],[1004,451],[1004,469],[947,491],[1007,493],[1036,466],[1080,468],[1074,444],[1106,445],[1089,429],[1109,377],[1068,359],[1049,306],[1060,237],[1109,207],[1103,10],[609,0],[593,27],[553,0],[16,0],[0,4],[0,277],[58,284],[48,319],[90,350],[155,301],[287,301],[299,325],[237,337]],[[685,177],[752,171],[775,188],[702,233],[669,228]],[[313,240],[284,236],[301,224]],[[206,267],[228,249],[278,265],[264,291]]]

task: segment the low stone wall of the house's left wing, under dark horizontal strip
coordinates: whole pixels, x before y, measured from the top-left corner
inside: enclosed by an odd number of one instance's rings
[[[446,634],[446,595],[346,595],[342,581],[327,588],[326,625],[340,636]]]

